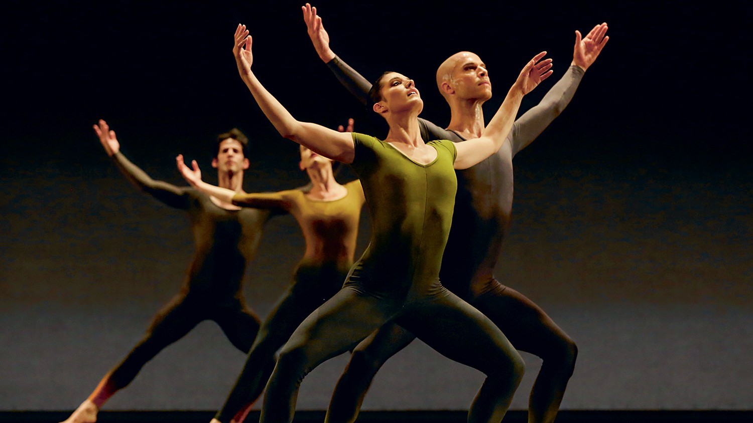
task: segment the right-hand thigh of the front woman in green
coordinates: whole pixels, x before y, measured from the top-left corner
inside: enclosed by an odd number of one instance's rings
[[[520,360],[491,320],[449,291],[417,304],[395,322],[445,357],[477,370]]]

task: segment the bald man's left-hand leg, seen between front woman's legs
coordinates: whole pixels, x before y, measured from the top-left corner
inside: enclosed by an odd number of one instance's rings
[[[327,409],[326,423],[351,423],[358,417],[373,376],[390,357],[416,337],[395,323],[388,323],[355,347],[343,375],[337,381]]]

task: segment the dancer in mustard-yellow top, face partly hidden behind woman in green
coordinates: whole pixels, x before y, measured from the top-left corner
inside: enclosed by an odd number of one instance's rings
[[[352,131],[352,119],[349,122],[348,131]],[[204,183],[198,168],[192,171],[178,156],[178,169],[191,186],[239,206],[285,210],[295,217],[306,240],[306,252],[294,270],[293,283],[261,325],[235,387],[218,412],[219,420],[245,418],[267,385],[275,352],[306,316],[340,290],[353,264],[364,204],[361,182],[355,180],[342,186],[334,179],[331,159],[303,146],[300,156],[300,168],[311,182],[309,190],[261,194],[238,194]]]

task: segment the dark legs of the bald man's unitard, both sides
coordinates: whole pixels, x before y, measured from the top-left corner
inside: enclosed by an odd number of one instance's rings
[[[494,279],[477,289],[470,303],[489,317],[517,349],[543,359],[529,399],[529,421],[553,421],[575,367],[575,343],[544,310]],[[360,343],[337,382],[325,421],[355,421],[373,376],[415,338],[407,325],[395,322]],[[483,357],[481,352],[478,356]]]

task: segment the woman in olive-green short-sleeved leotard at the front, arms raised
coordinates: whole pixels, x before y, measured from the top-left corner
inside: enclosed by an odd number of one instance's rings
[[[238,26],[233,53],[242,80],[283,137],[322,156],[350,163],[361,178],[372,218],[370,245],[343,289],[308,316],[285,343],[267,383],[261,421],[292,421],[300,382],[323,361],[346,352],[395,319],[429,346],[486,373],[469,421],[498,421],[520,382],[523,362],[495,325],[439,283],[439,267],[455,201],[453,169],[468,168],[501,147],[520,100],[548,77],[545,53],[529,61],[481,137],[454,144],[424,143],[418,115],[423,101],[413,80],[380,77],[373,110],[390,131],[385,140],[347,136],[299,122],[251,70],[251,37]]]

